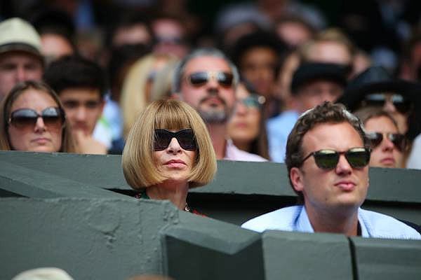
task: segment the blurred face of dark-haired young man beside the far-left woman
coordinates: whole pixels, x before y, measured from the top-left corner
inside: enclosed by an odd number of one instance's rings
[[[85,135],[91,135],[105,104],[99,90],[69,87],[62,90],[59,97],[72,130],[81,130]]]

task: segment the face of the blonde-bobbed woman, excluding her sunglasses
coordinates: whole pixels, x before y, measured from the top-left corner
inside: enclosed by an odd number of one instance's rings
[[[175,130],[170,130],[176,132]],[[163,176],[171,181],[187,182],[192,173],[196,151],[183,149],[173,137],[170,144],[162,151],[154,151],[154,163]]]

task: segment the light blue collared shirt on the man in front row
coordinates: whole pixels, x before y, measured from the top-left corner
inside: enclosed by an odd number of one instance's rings
[[[358,221],[362,237],[421,239],[421,235],[416,230],[385,214],[359,208]],[[241,228],[256,232],[265,230],[314,232],[303,205],[286,207],[263,214],[243,223]]]

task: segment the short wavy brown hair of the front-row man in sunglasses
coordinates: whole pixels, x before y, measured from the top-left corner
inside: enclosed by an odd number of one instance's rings
[[[368,139],[366,138],[366,133],[364,132],[363,125],[359,118],[356,118],[352,113],[349,113],[342,104],[324,102],[323,104],[302,113],[295,123],[293,130],[288,135],[285,157],[288,177],[290,170],[293,167],[301,167],[302,165],[302,159],[305,157],[305,155],[302,154],[302,139],[305,134],[317,125],[324,123],[349,123],[349,125],[352,125],[356,132],[360,134],[364,146],[368,147]],[[291,180],[290,185],[293,187]],[[295,191],[294,188],[293,190]],[[302,193],[297,191],[295,191],[295,193],[300,197],[300,202],[303,202],[304,197]]]

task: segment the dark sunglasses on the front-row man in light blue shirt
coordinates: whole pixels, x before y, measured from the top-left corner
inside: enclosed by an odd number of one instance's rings
[[[314,157],[317,167],[325,170],[334,169],[338,165],[340,155],[345,155],[349,165],[353,168],[362,168],[370,162],[370,149],[369,148],[351,148],[345,152],[338,152],[334,150],[320,150],[307,155],[302,160],[305,162],[311,156]]]

